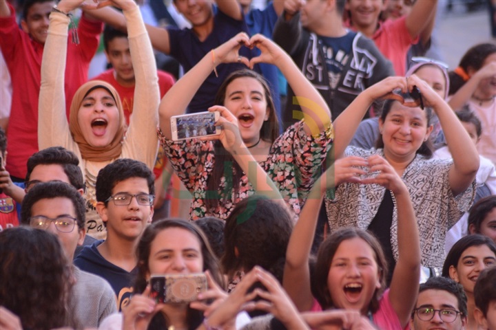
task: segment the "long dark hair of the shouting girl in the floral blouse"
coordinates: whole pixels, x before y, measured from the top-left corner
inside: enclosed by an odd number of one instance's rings
[[[238,78],[254,78],[262,85],[269,108],[269,119],[262,124],[260,129],[260,138],[267,142],[274,142],[279,136],[279,120],[276,115],[276,108],[270,94],[269,85],[265,78],[256,72],[248,69],[238,70],[230,74],[224,83],[220,86],[214,104],[224,105],[227,86]],[[231,191],[238,191],[239,181],[242,177],[242,170],[231,154],[225,150],[220,141],[214,142],[215,162],[214,169],[207,181],[207,196],[205,205],[207,210],[213,210],[218,207],[220,199],[226,201],[231,196]],[[219,186],[221,179],[225,177],[225,191],[220,192]]]

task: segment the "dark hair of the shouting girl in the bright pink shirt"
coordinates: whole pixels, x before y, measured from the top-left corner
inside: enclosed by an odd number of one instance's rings
[[[315,266],[315,274],[313,276],[315,280],[315,285],[313,286],[313,294],[322,306],[322,309],[335,308],[334,302],[329,293],[329,287],[327,285],[327,277],[329,276],[329,269],[331,268],[331,263],[334,258],[335,252],[338,250],[339,245],[343,241],[349,239],[363,239],[367,244],[370,245],[371,249],[375,254],[375,262],[378,264],[378,270],[380,273],[380,289],[375,289],[373,297],[371,299],[369,310],[375,313],[379,309],[379,299],[382,296],[382,292],[386,288],[386,274],[388,274],[388,264],[386,258],[384,257],[384,252],[379,241],[373,236],[373,234],[362,230],[360,228],[342,228],[333,232],[325,241],[322,242],[317,253],[317,263]]]

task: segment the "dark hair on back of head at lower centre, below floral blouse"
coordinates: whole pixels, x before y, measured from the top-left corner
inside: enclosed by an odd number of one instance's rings
[[[249,272],[259,265],[282,282],[293,221],[289,212],[260,195],[243,199],[226,219],[224,273],[231,278],[238,270]]]

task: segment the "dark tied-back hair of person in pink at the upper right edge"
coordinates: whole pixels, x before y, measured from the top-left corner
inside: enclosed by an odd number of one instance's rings
[[[466,51],[462,59],[459,61],[458,67],[463,69],[465,73],[469,68],[478,71],[484,65],[484,61],[491,54],[496,53],[496,45],[494,43],[480,43]],[[466,79],[457,74],[455,71],[449,72],[450,89],[449,95],[455,94],[460,87],[465,85]]]

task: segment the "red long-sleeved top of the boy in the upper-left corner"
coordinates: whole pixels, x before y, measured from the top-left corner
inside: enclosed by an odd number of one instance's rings
[[[19,29],[14,8],[12,5],[9,8],[10,17],[0,18],[0,47],[12,79],[12,107],[7,131],[9,161],[6,169],[11,175],[24,178],[28,158],[38,151],[38,96],[43,45]],[[80,44],[73,44],[69,36],[65,70],[67,115],[72,96],[87,80],[90,61],[102,31],[103,23],[88,21],[83,15],[78,25]]]

